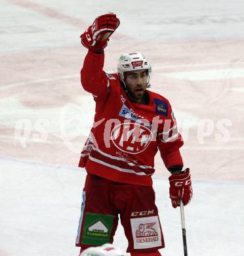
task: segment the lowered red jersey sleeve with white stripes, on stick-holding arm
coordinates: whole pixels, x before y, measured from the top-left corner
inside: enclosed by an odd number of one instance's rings
[[[171,105],[168,102],[168,116],[163,121],[161,131],[157,133],[157,146],[165,167],[169,169],[174,165],[183,166],[179,148],[184,142],[180,133]]]

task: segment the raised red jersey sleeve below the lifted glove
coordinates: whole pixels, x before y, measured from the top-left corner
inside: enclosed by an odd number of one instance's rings
[[[89,51],[85,56],[81,69],[81,85],[85,91],[92,94],[94,100],[104,100],[110,92],[110,81],[104,67],[104,53],[92,53]]]

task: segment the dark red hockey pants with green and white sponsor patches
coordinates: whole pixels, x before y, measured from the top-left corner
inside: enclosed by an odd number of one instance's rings
[[[76,246],[113,243],[120,215],[129,246],[127,252],[163,248],[163,233],[152,186],[138,186],[87,175],[83,189]]]

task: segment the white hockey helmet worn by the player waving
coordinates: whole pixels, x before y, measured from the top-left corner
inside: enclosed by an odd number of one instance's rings
[[[125,76],[124,73],[127,71],[134,70],[148,70],[148,83],[147,87],[149,88],[150,79],[152,77],[152,68],[148,63],[148,60],[141,53],[123,53],[119,57],[119,62],[117,64],[117,74],[119,75],[119,79],[125,85]],[[126,85],[125,85],[126,86]]]

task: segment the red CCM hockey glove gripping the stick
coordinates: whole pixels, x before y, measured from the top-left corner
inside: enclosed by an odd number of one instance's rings
[[[174,208],[180,205],[180,199],[184,205],[191,201],[193,192],[189,168],[183,173],[171,175],[169,177],[169,184],[169,197]]]

